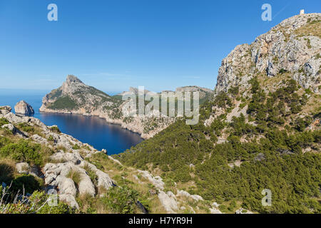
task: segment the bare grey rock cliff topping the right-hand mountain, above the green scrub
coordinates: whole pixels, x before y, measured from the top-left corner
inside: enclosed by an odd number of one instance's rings
[[[303,88],[320,93],[321,14],[292,16],[243,44],[223,59],[215,93],[233,86],[248,87],[259,73],[268,78],[290,73]]]

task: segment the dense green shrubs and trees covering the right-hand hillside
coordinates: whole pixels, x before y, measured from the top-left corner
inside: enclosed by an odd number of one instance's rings
[[[321,155],[302,151],[320,147],[321,130],[308,131],[311,118],[297,117],[307,103],[298,95],[295,81],[266,94],[257,78],[250,81],[252,97],[248,98],[248,119],[234,117],[226,123],[226,114],[210,126],[204,121],[212,107],[226,113],[234,108],[228,93],[221,92],[200,108],[200,123],[185,125],[178,120],[136,147],[113,157],[128,166],[153,172],[178,185],[189,185],[188,192],[212,202],[230,202],[221,208],[235,210],[235,203],[261,213],[320,213]],[[239,91],[232,88],[235,97]],[[215,144],[221,135],[227,140]],[[240,160],[240,167],[230,162]],[[195,167],[190,167],[190,164]],[[263,207],[263,189],[272,191],[272,207]]]

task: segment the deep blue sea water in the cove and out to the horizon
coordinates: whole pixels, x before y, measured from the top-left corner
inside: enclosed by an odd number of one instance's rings
[[[41,99],[48,91],[11,91],[0,90],[0,105],[14,105],[25,100],[35,110],[34,117],[39,118],[46,125],[58,125],[61,132],[72,135],[81,142],[92,145],[97,150],[106,149],[108,155],[118,154],[143,139],[140,135],[121,128],[120,125],[107,123],[98,117],[83,115],[39,113]],[[13,110],[14,112],[14,110]]]

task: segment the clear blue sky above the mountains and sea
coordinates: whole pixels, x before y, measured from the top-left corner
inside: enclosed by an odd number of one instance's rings
[[[106,92],[213,89],[235,46],[300,9],[320,13],[321,1],[0,0],[0,88],[51,90],[73,74]]]

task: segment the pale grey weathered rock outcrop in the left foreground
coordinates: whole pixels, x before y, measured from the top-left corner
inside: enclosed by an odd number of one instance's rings
[[[108,174],[98,170],[95,165],[85,160],[86,157],[99,152],[91,145],[80,142],[71,135],[60,133],[56,126],[46,126],[39,119],[15,115],[11,113],[9,106],[0,107],[0,119],[7,121],[6,124],[1,125],[1,129],[18,138],[46,145],[46,147],[55,151],[49,157],[50,162],[47,162],[44,167],[31,167],[27,162],[19,162],[16,163],[16,170],[19,173],[35,175],[43,179],[46,192],[56,190],[59,199],[68,203],[71,207],[77,209],[79,207],[75,199],[77,192],[80,195],[91,195],[93,197],[96,195],[96,188],[108,190],[114,185]],[[26,131],[19,129],[18,126]],[[32,133],[30,129],[33,129]],[[86,167],[86,170],[84,167]],[[93,183],[91,177],[88,176],[88,170],[96,174],[96,183]],[[71,171],[80,175],[78,185],[67,177]]]

